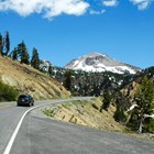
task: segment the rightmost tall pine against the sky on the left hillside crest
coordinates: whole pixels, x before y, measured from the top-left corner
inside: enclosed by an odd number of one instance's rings
[[[37,50],[35,47],[33,48],[31,66],[33,66],[36,69],[40,69],[40,58],[38,58]]]

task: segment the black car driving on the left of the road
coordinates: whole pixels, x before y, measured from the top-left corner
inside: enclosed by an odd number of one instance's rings
[[[34,106],[34,99],[30,95],[20,95],[16,101],[16,106]]]

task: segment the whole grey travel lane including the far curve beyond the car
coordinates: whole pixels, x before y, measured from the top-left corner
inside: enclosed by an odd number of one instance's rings
[[[59,102],[62,103],[78,99],[90,99],[90,98],[87,97],[87,98],[36,101],[35,107]],[[33,109],[33,107],[31,108]],[[29,107],[16,107],[16,102],[0,102],[0,154],[4,152],[19,121],[28,110],[30,110]]]

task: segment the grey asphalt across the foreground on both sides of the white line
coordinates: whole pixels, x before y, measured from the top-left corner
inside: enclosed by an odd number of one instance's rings
[[[0,153],[29,109],[8,106],[0,107]],[[41,118],[32,111],[24,118],[10,154],[154,154],[154,142]]]

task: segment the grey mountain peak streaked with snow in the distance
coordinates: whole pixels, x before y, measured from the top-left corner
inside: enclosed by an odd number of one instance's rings
[[[73,59],[65,68],[75,70],[81,69],[86,72],[112,72],[118,74],[135,74],[140,70],[140,68],[121,63],[103,53],[89,53]]]

